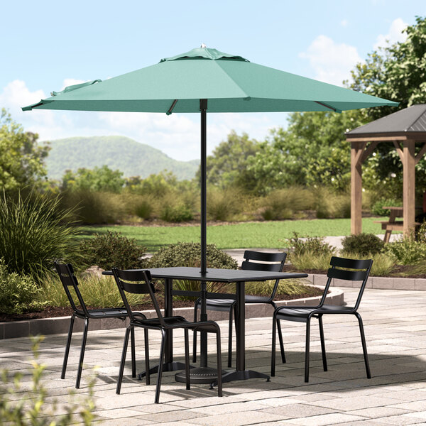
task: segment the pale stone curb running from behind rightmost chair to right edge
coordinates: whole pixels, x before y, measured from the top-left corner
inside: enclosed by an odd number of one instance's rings
[[[305,278],[313,285],[324,286],[327,283],[327,275],[310,274]],[[351,281],[337,280],[333,278],[332,286],[352,287]],[[359,286],[358,283],[354,287]],[[395,277],[369,277],[366,288],[378,288],[383,290],[424,290],[426,291],[426,278],[395,278]]]

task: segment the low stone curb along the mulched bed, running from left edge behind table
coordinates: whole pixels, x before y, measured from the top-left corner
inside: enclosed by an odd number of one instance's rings
[[[320,301],[320,296],[306,297],[305,299],[282,300],[276,302],[278,306],[285,305],[310,305],[315,306]],[[327,295],[326,302],[328,305],[343,305],[344,293],[338,288],[330,289]],[[155,317],[154,310],[143,311],[147,318]],[[253,303],[246,305],[246,318],[267,317],[273,313],[273,307],[264,305],[262,303]],[[187,320],[192,321],[194,318],[193,307],[179,307],[173,310],[173,315],[181,315]],[[227,320],[229,315],[227,312],[209,311],[209,320],[219,321]],[[99,329],[114,329],[125,327],[126,321],[117,318],[105,318],[104,320],[97,320],[89,322],[90,330]],[[13,339],[15,337],[28,337],[35,336],[36,334],[62,334],[67,333],[70,327],[70,317],[56,317],[56,318],[40,318],[38,320],[26,321],[11,321],[0,322],[0,339]],[[74,323],[74,332],[83,331],[83,322],[78,319]]]

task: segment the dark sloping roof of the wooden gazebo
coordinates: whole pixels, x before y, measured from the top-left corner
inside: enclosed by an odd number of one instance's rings
[[[391,134],[390,134],[391,133]],[[426,104],[401,109],[346,133],[348,139],[368,136],[424,136]]]

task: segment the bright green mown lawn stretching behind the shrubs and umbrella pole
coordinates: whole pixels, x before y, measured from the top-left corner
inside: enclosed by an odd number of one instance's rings
[[[362,219],[363,231],[383,234],[381,225],[373,224],[373,220],[377,218]],[[148,251],[157,251],[161,246],[178,241],[200,241],[200,226],[82,226],[82,238],[108,230],[136,239]],[[313,219],[207,226],[207,244],[216,244],[219,249],[280,249],[288,245],[286,239],[293,236],[293,231],[299,236],[349,235],[351,223],[350,219]]]

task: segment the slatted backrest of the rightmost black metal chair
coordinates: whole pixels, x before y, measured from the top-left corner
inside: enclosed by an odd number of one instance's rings
[[[362,281],[359,288],[358,297],[356,297],[355,305],[352,308],[352,311],[356,312],[356,310],[359,308],[359,304],[361,303],[361,298],[364,294],[364,288],[366,288],[368,275],[370,275],[373,261],[371,259],[357,260],[332,256],[330,265],[332,267],[329,268],[327,272],[328,280],[327,284],[325,285],[320,306],[322,306],[325,302],[325,297],[327,297],[327,292],[333,278],[337,278],[338,280]]]

